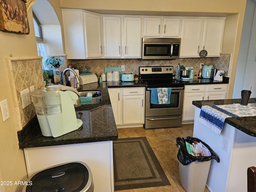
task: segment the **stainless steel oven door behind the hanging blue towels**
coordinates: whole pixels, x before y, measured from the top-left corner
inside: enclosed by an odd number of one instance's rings
[[[146,90],[145,101],[145,116],[172,116],[182,115],[184,86],[172,88],[170,95],[170,104],[151,104],[150,102],[151,91],[150,88]]]

